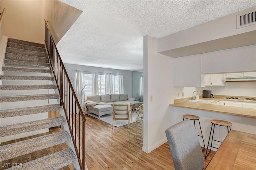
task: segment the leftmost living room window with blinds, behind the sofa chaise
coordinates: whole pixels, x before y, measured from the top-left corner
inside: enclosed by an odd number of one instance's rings
[[[82,81],[83,81],[83,86],[86,85],[87,87],[84,89],[84,100],[87,99],[87,96],[93,95],[93,73],[91,72],[82,72]]]

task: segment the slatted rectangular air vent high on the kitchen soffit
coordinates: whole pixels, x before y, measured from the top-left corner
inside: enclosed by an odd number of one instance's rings
[[[236,20],[237,29],[256,24],[256,10],[251,10],[243,14],[238,14]]]

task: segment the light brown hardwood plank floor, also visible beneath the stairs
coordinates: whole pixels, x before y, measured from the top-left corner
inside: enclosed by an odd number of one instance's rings
[[[139,128],[138,132],[142,132],[142,124]],[[63,128],[51,128],[49,133],[61,130]],[[128,125],[112,129],[110,124],[86,115],[85,134],[85,160],[88,170],[174,170],[168,142],[146,154],[142,151],[142,144],[136,142],[136,123],[130,124],[130,129],[128,129]],[[28,138],[23,138],[23,140]],[[4,142],[2,145],[18,141],[20,140]],[[54,146],[2,163],[24,163],[57,152],[65,147],[68,147],[67,144]],[[210,153],[207,160],[205,160],[205,165],[209,163],[214,153]],[[205,151],[203,154],[205,154]],[[62,169],[73,170],[74,168],[69,165]],[[1,170],[4,170],[4,168],[1,168]]]

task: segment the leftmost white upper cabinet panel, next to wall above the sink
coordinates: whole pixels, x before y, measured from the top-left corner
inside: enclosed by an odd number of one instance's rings
[[[175,58],[175,86],[201,86],[201,55]]]

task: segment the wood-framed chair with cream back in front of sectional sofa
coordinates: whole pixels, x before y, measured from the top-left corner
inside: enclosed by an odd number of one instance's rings
[[[130,103],[113,103],[112,129],[114,120],[128,120],[128,129],[130,129],[130,120],[132,121],[132,108]]]

